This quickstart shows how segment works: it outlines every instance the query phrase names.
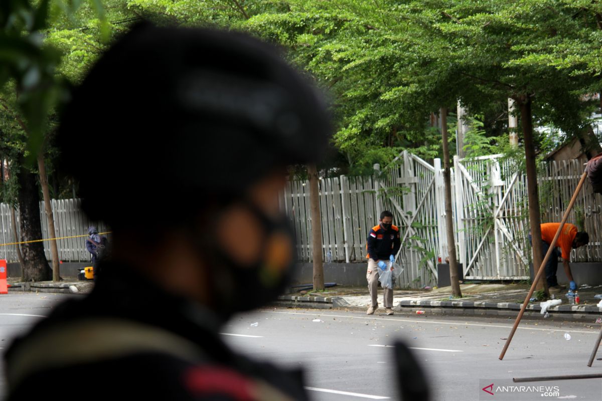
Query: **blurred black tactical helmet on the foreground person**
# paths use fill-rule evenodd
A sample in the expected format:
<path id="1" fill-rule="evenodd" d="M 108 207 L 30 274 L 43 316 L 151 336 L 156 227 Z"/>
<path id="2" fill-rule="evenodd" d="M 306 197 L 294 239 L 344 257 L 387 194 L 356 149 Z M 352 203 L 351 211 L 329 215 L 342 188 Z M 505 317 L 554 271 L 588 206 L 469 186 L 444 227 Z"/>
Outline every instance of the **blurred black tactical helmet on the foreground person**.
<path id="1" fill-rule="evenodd" d="M 272 46 L 208 29 L 135 26 L 76 88 L 60 168 L 92 219 L 179 221 L 273 168 L 318 161 L 329 117 Z"/>

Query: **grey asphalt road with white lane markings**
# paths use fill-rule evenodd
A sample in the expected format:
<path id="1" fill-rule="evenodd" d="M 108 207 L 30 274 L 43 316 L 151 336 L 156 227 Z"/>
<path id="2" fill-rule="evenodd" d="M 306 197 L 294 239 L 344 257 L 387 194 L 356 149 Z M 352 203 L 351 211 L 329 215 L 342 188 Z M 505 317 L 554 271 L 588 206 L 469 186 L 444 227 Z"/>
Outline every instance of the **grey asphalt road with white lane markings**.
<path id="1" fill-rule="evenodd" d="M 0 296 L 0 348 L 67 297 L 42 293 Z M 586 366 L 599 324 L 524 320 L 500 361 L 512 322 L 489 317 L 385 316 L 378 312 L 366 316 L 344 310 L 265 308 L 235 316 L 222 333 L 232 347 L 256 359 L 302 366 L 309 394 L 318 401 L 398 399 L 393 348 L 388 347 L 395 340 L 413 348 L 427 372 L 433 401 L 602 401 L 602 379 L 511 380 L 602 373 L 602 361 Z M 565 340 L 565 334 L 571 339 Z M 602 352 L 598 357 L 602 358 Z M 0 379 L 2 394 L 4 380 Z"/>

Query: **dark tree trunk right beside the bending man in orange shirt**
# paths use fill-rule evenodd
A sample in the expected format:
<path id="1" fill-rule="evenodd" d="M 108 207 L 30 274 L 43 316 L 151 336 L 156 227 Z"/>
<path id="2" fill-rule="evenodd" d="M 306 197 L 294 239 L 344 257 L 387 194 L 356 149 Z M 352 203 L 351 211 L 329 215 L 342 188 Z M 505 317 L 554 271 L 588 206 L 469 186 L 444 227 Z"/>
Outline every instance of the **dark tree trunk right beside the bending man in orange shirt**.
<path id="1" fill-rule="evenodd" d="M 529 196 L 529 224 L 531 226 L 531 243 L 533 248 L 533 270 L 537 274 L 543 257 L 541 255 L 541 216 L 539 214 L 539 191 L 537 185 L 537 168 L 535 165 L 535 145 L 533 144 L 533 121 L 531 115 L 531 98 L 529 96 L 515 99 L 521 108 L 521 127 L 525 146 L 525 165 L 527 170 L 527 194 Z M 541 276 L 535 287 L 548 293 L 545 274 Z"/>

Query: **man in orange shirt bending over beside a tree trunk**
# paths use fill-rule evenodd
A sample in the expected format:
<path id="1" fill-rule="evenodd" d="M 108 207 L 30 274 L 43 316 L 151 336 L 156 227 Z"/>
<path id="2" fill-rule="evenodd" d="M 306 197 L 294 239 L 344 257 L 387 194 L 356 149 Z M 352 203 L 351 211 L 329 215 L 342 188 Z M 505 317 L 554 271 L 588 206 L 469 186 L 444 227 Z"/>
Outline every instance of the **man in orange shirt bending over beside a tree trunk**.
<path id="1" fill-rule="evenodd" d="M 548 252 L 550 243 L 552 243 L 552 240 L 556 235 L 556 231 L 558 231 L 559 225 L 560 223 L 545 223 L 541 225 L 542 257 L 545 257 L 545 254 Z M 560 236 L 556 241 L 556 248 L 560 248 L 562 264 L 565 269 L 566 277 L 569 280 L 569 286 L 571 290 L 577 289 L 577 284 L 573 280 L 573 274 L 571 273 L 571 266 L 568 263 L 569 258 L 571 257 L 571 249 L 576 249 L 579 248 L 579 246 L 587 245 L 588 242 L 588 233 L 585 231 L 578 232 L 577 227 L 568 223 L 563 225 L 562 231 L 560 231 Z M 548 289 L 550 289 L 551 293 L 557 293 L 566 288 L 566 286 L 560 286 L 556 280 L 558 256 L 557 249 L 554 249 L 550 259 L 548 259 L 548 262 L 545 264 L 545 278 L 548 281 Z"/>

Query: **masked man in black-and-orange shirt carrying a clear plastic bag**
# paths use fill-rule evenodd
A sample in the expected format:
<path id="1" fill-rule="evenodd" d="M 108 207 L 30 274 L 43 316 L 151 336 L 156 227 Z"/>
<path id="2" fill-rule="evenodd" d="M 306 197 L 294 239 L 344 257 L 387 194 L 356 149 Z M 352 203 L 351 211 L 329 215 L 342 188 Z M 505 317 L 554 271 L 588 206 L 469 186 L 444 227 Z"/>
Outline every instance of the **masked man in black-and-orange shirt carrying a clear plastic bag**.
<path id="1" fill-rule="evenodd" d="M 399 238 L 399 227 L 393 225 L 393 213 L 388 210 L 380 213 L 379 222 L 379 225 L 370 229 L 366 244 L 368 248 L 366 279 L 371 301 L 367 314 L 373 314 L 378 309 L 378 269 L 385 270 L 388 265 L 391 265 L 391 269 L 393 269 L 395 256 L 402 245 Z M 393 314 L 393 289 L 383 289 L 383 304 L 385 313 Z"/>

